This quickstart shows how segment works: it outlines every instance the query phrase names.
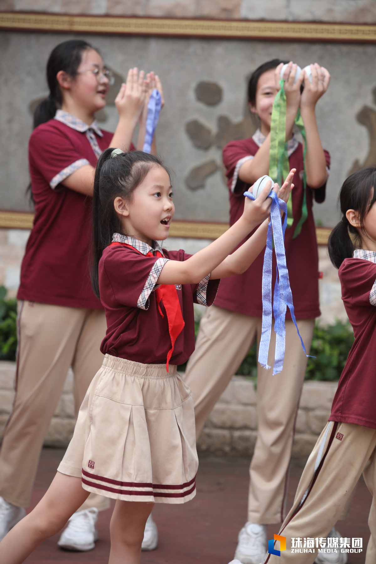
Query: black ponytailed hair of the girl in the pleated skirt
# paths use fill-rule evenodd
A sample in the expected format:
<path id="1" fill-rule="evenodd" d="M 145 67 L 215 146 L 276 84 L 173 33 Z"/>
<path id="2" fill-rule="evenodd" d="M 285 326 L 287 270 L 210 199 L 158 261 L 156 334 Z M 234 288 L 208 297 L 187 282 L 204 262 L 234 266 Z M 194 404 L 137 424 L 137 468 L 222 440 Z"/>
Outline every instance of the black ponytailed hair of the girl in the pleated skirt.
<path id="1" fill-rule="evenodd" d="M 104 249 L 110 245 L 113 233 L 122 232 L 113 201 L 118 196 L 128 201 L 132 200 L 133 191 L 153 166 L 163 167 L 170 177 L 169 170 L 159 157 L 143 151 L 121 153 L 111 157 L 112 151 L 113 148 L 110 147 L 100 155 L 94 177 L 91 285 L 98 298 L 100 257 Z"/>

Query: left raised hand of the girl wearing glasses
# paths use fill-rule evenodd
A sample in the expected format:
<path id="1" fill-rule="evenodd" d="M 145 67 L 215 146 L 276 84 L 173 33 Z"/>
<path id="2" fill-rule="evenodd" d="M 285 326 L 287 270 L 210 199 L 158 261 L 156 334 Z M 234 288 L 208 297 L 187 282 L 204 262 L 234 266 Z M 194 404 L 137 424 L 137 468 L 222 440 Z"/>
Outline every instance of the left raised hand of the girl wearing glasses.
<path id="1" fill-rule="evenodd" d="M 116 109 L 119 117 L 136 121 L 142 113 L 148 92 L 148 81 L 145 72 L 137 68 L 129 69 L 126 83 L 120 87 L 115 98 Z"/>

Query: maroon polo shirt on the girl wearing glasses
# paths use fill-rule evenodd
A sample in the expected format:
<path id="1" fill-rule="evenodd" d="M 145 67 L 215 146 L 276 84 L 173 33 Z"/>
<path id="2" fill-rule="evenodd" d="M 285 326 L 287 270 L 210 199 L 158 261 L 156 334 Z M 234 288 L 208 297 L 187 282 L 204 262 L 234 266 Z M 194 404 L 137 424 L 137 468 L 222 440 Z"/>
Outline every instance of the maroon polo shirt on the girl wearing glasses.
<path id="1" fill-rule="evenodd" d="M 102 134 L 94 133 L 103 151 L 113 133 Z M 97 166 L 97 161 L 85 133 L 58 120 L 38 126 L 30 136 L 35 217 L 21 266 L 18 299 L 102 309 L 90 283 L 91 198 L 59 183 L 80 166 Z"/>

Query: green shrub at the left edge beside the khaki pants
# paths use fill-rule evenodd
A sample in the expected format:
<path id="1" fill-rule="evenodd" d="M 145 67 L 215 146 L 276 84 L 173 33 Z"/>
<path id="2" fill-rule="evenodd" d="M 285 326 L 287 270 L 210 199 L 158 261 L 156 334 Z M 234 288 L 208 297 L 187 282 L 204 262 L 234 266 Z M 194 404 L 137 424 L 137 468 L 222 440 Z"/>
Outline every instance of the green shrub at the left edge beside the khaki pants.
<path id="1" fill-rule="evenodd" d="M 6 294 L 0 286 L 0 360 L 16 360 L 17 300 L 5 299 Z"/>

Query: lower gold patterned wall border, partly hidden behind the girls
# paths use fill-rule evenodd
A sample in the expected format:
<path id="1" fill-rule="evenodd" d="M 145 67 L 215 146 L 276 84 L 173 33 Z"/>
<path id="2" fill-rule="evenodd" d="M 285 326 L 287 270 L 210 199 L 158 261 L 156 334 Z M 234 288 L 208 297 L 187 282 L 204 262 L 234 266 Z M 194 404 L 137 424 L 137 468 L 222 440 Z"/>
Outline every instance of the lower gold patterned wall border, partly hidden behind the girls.
<path id="1" fill-rule="evenodd" d="M 34 214 L 30 211 L 0 210 L 0 229 L 31 229 Z M 182 221 L 176 219 L 170 227 L 170 237 L 185 239 L 217 239 L 228 230 L 228 223 Z M 316 227 L 318 245 L 326 245 L 330 227 Z"/>

